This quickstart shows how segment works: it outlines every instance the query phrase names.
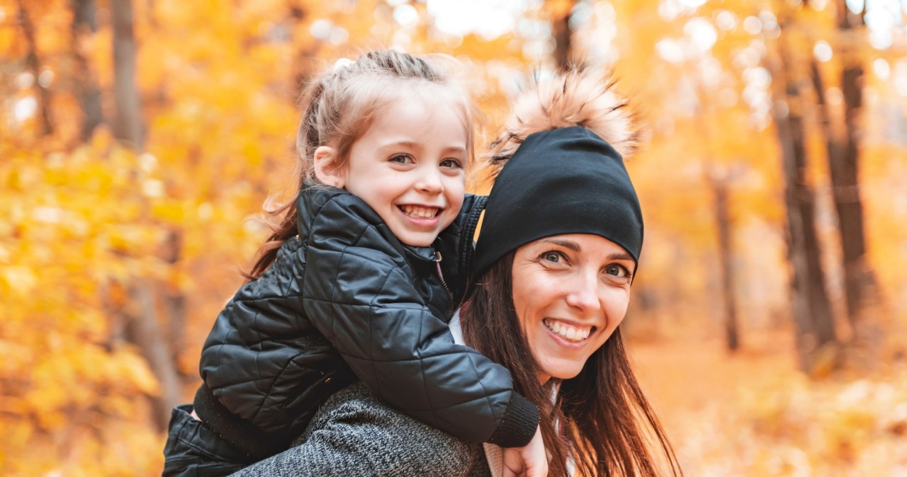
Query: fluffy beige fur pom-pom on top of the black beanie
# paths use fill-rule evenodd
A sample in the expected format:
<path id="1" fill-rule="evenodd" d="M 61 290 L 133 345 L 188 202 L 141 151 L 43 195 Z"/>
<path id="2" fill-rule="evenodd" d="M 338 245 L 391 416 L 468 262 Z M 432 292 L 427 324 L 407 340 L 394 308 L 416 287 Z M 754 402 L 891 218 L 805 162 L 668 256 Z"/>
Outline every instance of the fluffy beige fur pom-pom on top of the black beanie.
<path id="1" fill-rule="evenodd" d="M 536 79 L 513 101 L 510 118 L 491 145 L 490 176 L 500 173 L 528 136 L 549 129 L 581 126 L 607 141 L 620 156 L 632 156 L 639 143 L 639 129 L 627 100 L 614 91 L 615 84 L 610 75 L 587 65 Z"/>

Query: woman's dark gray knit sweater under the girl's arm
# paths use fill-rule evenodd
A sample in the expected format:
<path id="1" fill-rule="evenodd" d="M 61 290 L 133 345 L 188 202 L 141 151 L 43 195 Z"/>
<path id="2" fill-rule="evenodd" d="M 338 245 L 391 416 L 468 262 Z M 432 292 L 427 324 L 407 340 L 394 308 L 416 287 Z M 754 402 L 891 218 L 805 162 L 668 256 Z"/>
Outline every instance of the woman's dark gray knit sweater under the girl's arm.
<path id="1" fill-rule="evenodd" d="M 234 476 L 490 476 L 482 444 L 467 443 L 378 400 L 355 383 L 327 399 L 299 443 Z"/>

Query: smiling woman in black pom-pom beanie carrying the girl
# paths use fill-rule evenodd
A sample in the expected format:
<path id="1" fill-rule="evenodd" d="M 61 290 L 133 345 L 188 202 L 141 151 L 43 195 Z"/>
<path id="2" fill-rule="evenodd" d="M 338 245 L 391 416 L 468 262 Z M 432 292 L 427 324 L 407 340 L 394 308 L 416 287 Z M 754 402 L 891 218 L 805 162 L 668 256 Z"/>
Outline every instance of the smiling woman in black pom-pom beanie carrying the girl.
<path id="1" fill-rule="evenodd" d="M 618 152 L 635 144 L 623 107 L 582 70 L 518 100 L 493 144 L 499 174 L 476 244 L 475 290 L 452 323 L 540 406 L 551 475 L 661 474 L 652 437 L 661 462 L 681 473 L 619 332 L 643 236 Z M 405 417 L 363 385 L 332 396 L 300 440 L 236 475 L 523 472 L 493 445 L 483 455 L 480 444 Z"/>

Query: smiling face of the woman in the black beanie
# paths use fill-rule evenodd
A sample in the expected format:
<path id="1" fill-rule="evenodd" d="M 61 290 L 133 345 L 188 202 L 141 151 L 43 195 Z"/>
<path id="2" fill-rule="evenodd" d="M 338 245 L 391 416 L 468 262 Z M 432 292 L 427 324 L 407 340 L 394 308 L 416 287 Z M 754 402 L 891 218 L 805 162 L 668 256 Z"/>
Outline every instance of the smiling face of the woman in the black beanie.
<path id="1" fill-rule="evenodd" d="M 633 257 L 591 234 L 553 235 L 513 257 L 513 305 L 542 382 L 580 374 L 627 314 Z"/>

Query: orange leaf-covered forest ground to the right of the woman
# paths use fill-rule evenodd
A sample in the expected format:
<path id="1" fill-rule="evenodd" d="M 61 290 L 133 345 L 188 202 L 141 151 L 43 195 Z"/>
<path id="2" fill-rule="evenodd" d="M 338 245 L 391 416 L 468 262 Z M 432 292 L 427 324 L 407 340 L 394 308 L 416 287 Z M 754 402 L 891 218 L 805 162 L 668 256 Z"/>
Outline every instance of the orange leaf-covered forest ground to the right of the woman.
<path id="1" fill-rule="evenodd" d="M 810 381 L 794 371 L 788 329 L 747 335 L 729 357 L 716 339 L 633 349 L 644 388 L 688 475 L 901 475 L 907 470 L 904 369 Z"/>

